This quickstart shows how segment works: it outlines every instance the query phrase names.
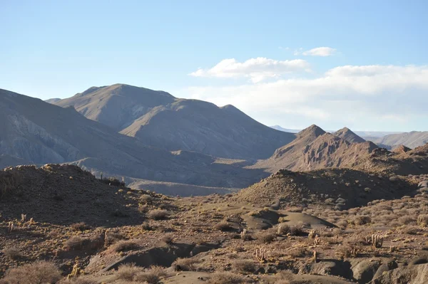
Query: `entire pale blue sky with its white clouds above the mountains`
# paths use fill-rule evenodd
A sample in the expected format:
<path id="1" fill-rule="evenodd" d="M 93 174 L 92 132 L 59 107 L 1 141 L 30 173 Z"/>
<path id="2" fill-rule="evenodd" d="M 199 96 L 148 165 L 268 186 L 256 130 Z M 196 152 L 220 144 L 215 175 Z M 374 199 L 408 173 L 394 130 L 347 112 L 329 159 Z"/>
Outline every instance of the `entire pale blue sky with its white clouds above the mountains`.
<path id="1" fill-rule="evenodd" d="M 427 1 L 0 0 L 0 88 L 127 83 L 266 125 L 428 130 Z"/>

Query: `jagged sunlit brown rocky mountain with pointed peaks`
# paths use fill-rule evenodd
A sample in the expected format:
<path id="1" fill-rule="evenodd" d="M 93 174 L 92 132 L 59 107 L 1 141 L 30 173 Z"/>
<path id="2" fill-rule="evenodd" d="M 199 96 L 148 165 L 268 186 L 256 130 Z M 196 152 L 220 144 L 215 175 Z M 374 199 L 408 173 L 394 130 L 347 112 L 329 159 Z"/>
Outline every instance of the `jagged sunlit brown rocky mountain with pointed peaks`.
<path id="1" fill-rule="evenodd" d="M 340 132 L 343 133 L 352 137 L 350 131 Z M 272 157 L 258 162 L 253 167 L 270 172 L 279 169 L 308 171 L 325 167 L 355 167 L 362 157 L 368 156 L 376 148 L 372 142 L 348 142 L 311 125 L 297 133 L 296 139 L 290 144 L 280 147 Z"/>

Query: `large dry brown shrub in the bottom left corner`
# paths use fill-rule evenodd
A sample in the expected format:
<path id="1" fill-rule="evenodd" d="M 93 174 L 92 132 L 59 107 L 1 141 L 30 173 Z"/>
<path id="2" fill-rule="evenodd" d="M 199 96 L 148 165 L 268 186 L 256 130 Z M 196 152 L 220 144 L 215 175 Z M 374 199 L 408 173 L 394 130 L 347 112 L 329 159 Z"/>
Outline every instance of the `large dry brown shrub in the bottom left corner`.
<path id="1" fill-rule="evenodd" d="M 5 283 L 9 284 L 44 284 L 56 283 L 61 279 L 61 272 L 54 263 L 37 261 L 11 268 L 6 272 Z"/>

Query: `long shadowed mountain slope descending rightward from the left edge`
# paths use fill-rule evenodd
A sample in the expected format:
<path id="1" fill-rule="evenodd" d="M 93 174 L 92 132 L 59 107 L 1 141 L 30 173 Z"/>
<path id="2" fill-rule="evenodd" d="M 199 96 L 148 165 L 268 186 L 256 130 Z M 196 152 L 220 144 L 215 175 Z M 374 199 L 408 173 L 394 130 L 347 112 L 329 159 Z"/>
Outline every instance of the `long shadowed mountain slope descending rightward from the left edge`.
<path id="1" fill-rule="evenodd" d="M 242 188 L 266 174 L 237 161 L 149 147 L 74 110 L 0 90 L 0 154 L 31 164 L 76 164 L 98 176 Z M 16 164 L 16 161 L 14 162 Z M 170 188 L 170 186 L 169 186 Z"/>

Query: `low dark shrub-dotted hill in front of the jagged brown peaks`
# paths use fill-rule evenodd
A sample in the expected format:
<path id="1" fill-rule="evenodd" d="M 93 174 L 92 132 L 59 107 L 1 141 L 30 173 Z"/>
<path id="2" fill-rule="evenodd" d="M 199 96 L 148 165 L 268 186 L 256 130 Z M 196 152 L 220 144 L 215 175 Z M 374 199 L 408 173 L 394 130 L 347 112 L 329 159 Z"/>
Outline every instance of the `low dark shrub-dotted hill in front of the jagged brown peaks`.
<path id="1" fill-rule="evenodd" d="M 378 176 L 354 169 L 319 169 L 290 172 L 285 169 L 272 174 L 236 195 L 240 202 L 263 206 L 280 200 L 282 208 L 292 206 L 329 205 L 347 209 L 367 204 L 374 199 L 396 199 L 412 194 L 416 184 L 390 176 Z"/>

